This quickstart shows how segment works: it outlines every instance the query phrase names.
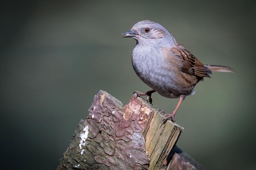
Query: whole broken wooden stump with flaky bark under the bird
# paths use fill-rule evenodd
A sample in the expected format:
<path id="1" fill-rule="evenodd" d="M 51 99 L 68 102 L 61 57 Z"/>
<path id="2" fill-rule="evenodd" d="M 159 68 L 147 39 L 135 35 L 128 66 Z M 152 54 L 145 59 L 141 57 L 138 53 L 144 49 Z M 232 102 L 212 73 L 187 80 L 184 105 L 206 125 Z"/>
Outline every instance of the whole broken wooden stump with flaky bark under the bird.
<path id="1" fill-rule="evenodd" d="M 205 170 L 174 147 L 182 130 L 141 97 L 123 107 L 99 91 L 57 170 Z"/>

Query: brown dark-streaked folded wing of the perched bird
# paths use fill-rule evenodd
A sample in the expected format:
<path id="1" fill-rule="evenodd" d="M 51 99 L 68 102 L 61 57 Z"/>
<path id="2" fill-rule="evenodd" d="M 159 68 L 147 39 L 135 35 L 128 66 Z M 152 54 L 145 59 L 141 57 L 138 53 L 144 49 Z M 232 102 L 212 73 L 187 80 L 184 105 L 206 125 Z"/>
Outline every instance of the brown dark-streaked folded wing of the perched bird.
<path id="1" fill-rule="evenodd" d="M 185 49 L 184 46 L 178 44 L 172 48 L 174 55 L 182 61 L 180 70 L 189 75 L 196 75 L 198 77 L 210 77 L 209 68 L 205 67 L 193 54 Z"/>

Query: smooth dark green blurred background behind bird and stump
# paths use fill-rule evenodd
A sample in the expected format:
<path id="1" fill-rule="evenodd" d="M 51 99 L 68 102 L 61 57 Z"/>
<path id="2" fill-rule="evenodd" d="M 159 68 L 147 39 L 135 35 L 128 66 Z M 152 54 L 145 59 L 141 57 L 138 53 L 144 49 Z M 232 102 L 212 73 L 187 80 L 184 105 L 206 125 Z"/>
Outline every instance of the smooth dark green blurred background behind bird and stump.
<path id="1" fill-rule="evenodd" d="M 55 169 L 100 89 L 126 104 L 138 21 L 161 23 L 204 64 L 234 68 L 196 86 L 177 112 L 177 145 L 208 170 L 256 169 L 256 2 L 1 2 L 1 169 Z M 171 112 L 178 100 L 153 94 Z"/>

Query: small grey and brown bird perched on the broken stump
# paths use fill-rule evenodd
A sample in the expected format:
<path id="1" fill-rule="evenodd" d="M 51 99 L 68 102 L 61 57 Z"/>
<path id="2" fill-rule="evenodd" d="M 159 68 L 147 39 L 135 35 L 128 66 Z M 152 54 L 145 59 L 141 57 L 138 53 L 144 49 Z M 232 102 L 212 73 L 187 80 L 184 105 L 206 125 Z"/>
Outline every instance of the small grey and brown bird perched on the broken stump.
<path id="1" fill-rule="evenodd" d="M 152 93 L 167 98 L 179 98 L 179 102 L 165 120 L 175 122 L 175 114 L 182 101 L 194 93 L 195 85 L 212 72 L 230 72 L 227 66 L 204 65 L 161 24 L 143 20 L 137 22 L 123 38 L 133 38 L 136 46 L 132 51 L 132 66 L 137 76 L 152 90 L 135 91 L 137 96 L 146 96 L 151 104 Z"/>

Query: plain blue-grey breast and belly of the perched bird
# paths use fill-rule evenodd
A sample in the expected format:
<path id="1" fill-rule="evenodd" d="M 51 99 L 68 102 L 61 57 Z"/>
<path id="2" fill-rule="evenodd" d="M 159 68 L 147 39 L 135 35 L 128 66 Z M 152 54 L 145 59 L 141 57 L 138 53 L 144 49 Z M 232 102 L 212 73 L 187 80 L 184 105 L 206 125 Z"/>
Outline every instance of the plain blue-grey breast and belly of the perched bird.
<path id="1" fill-rule="evenodd" d="M 173 78 L 175 73 L 168 69 L 165 57 L 161 56 L 160 48 L 149 46 L 135 46 L 132 51 L 132 66 L 139 78 L 160 95 L 176 98 Z"/>

